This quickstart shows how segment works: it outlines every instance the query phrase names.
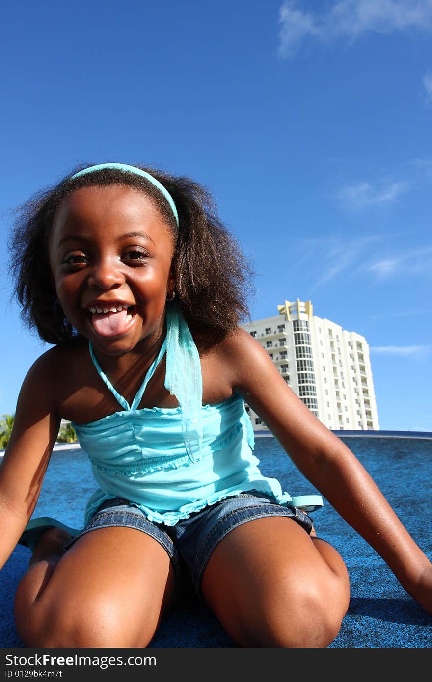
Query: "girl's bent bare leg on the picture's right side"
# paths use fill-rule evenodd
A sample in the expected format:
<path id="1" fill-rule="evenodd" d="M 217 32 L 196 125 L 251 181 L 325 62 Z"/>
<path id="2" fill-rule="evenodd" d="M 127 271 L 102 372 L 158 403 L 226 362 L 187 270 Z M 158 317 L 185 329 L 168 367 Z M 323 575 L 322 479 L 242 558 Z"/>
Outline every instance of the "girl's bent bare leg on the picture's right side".
<path id="1" fill-rule="evenodd" d="M 242 647 L 327 647 L 349 606 L 339 554 L 283 516 L 250 520 L 225 535 L 201 588 Z"/>

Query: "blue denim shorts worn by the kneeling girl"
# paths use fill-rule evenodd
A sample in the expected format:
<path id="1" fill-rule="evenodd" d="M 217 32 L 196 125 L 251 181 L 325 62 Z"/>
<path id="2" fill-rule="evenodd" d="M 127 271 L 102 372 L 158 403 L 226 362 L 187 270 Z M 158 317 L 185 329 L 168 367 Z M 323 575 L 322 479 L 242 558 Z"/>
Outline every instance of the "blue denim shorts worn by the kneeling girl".
<path id="1" fill-rule="evenodd" d="M 120 526 L 132 528 L 153 537 L 169 555 L 177 585 L 182 582 L 184 568 L 200 598 L 201 579 L 207 562 L 220 540 L 237 526 L 255 518 L 287 516 L 311 533 L 312 519 L 290 503 L 280 505 L 262 492 L 244 492 L 228 497 L 180 519 L 174 526 L 149 521 L 144 512 L 120 497 L 107 500 L 91 516 L 81 535 L 101 528 Z M 72 545 L 78 537 L 68 542 Z"/>

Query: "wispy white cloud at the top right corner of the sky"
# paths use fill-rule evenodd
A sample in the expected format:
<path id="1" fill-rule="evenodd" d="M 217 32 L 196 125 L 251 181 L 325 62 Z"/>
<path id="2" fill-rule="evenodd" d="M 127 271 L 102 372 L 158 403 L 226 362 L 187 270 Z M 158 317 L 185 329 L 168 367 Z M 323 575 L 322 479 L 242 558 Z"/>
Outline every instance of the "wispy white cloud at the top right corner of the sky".
<path id="1" fill-rule="evenodd" d="M 431 31 L 432 0 L 334 0 L 308 3 L 285 0 L 279 12 L 279 53 L 291 57 L 306 38 L 330 42 L 394 31 Z M 323 8 L 323 9 L 322 9 Z"/>

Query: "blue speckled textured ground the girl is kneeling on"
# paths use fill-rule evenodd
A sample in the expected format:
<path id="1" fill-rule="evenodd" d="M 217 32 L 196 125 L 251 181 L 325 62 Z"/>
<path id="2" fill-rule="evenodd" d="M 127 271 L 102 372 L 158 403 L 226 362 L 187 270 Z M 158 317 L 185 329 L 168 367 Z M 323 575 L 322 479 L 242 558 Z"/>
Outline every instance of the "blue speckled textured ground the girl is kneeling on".
<path id="1" fill-rule="evenodd" d="M 432 440 L 360 436 L 346 438 L 345 442 L 431 559 Z M 278 477 L 290 494 L 316 492 L 273 438 L 257 439 L 256 454 L 263 473 Z M 34 516 L 55 516 L 72 527 L 81 527 L 83 506 L 92 490 L 89 464 L 83 453 L 57 451 L 48 467 Z M 328 503 L 315 514 L 315 525 L 319 535 L 342 554 L 351 578 L 349 611 L 332 647 L 431 647 L 432 617 L 405 593 L 384 561 Z M 0 647 L 23 646 L 14 625 L 13 598 L 29 556 L 29 550 L 17 546 L 0 573 Z M 212 613 L 192 597 L 163 619 L 151 646 L 235 644 Z"/>

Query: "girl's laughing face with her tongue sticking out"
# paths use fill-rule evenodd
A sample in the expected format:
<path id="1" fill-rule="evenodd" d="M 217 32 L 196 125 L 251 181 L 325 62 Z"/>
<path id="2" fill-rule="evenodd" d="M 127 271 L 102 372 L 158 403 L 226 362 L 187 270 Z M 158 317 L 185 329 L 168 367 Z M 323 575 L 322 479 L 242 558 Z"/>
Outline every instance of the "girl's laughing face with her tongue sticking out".
<path id="1" fill-rule="evenodd" d="M 66 197 L 49 257 L 70 323 L 106 355 L 122 355 L 164 329 L 173 292 L 174 239 L 154 203 L 127 186 L 91 186 Z"/>

